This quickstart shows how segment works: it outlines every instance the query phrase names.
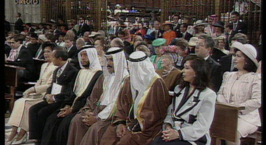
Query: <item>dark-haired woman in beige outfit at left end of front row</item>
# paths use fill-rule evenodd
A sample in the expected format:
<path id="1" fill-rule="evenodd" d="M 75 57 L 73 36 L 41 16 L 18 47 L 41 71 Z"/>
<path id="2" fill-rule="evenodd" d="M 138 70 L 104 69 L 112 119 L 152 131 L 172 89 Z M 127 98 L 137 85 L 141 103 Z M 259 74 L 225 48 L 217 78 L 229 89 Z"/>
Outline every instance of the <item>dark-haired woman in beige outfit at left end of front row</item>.
<path id="1" fill-rule="evenodd" d="M 43 96 L 52 82 L 53 71 L 57 66 L 52 62 L 52 51 L 55 47 L 53 43 L 47 43 L 44 49 L 44 57 L 47 62 L 42 64 L 40 78 L 34 87 L 30 87 L 23 92 L 23 97 L 16 100 L 8 125 L 12 125 L 11 134 L 6 141 L 7 144 L 21 144 L 25 142 L 28 131 L 29 107 L 43 101 Z M 18 133 L 18 128 L 20 132 Z"/>

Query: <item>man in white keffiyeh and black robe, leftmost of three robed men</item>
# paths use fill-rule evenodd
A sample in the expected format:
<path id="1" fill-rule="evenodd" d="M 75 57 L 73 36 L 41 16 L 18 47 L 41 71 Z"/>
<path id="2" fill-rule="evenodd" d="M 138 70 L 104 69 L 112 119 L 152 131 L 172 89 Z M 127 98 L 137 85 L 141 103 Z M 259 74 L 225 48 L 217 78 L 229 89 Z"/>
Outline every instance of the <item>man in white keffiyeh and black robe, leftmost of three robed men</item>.
<path id="1" fill-rule="evenodd" d="M 82 49 L 78 60 L 81 69 L 74 83 L 72 99 L 48 117 L 41 144 L 67 144 L 72 118 L 85 105 L 93 86 L 103 74 L 95 48 Z"/>

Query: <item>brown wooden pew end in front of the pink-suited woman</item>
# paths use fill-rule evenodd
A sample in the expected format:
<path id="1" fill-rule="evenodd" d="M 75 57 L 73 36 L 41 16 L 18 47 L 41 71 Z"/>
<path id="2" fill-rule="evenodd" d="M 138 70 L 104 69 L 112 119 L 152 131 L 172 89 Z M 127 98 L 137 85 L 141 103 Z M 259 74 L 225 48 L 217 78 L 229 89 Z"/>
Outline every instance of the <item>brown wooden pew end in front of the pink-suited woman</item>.
<path id="1" fill-rule="evenodd" d="M 221 144 L 221 139 L 236 141 L 238 114 L 240 110 L 244 109 L 244 106 L 216 103 L 214 119 L 210 129 L 210 134 L 215 139 L 215 144 Z"/>

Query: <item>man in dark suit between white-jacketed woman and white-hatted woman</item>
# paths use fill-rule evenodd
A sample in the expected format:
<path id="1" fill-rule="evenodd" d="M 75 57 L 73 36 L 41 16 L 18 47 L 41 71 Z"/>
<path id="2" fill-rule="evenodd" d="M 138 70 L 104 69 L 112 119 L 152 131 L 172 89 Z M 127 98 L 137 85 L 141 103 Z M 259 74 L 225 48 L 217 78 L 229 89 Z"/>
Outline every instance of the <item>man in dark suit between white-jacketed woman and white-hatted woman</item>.
<path id="1" fill-rule="evenodd" d="M 198 44 L 195 48 L 195 54 L 203 57 L 208 62 L 212 83 L 210 88 L 215 92 L 218 92 L 222 83 L 222 69 L 221 65 L 210 57 L 210 52 L 214 46 L 215 42 L 212 37 L 208 34 L 202 34 L 198 36 Z"/>

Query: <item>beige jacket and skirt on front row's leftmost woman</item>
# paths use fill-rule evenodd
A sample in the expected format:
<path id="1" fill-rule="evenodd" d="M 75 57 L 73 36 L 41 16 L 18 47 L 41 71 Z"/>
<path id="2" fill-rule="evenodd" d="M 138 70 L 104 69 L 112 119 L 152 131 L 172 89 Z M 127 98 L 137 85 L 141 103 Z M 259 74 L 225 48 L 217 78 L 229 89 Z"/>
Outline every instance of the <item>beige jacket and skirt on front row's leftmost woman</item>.
<path id="1" fill-rule="evenodd" d="M 43 96 L 46 93 L 46 89 L 50 86 L 52 82 L 53 71 L 57 66 L 53 63 L 44 63 L 41 67 L 40 78 L 35 85 L 37 93 L 30 95 L 28 98 L 22 97 L 15 101 L 12 114 L 10 116 L 9 125 L 20 127 L 25 131 L 28 131 L 28 111 L 29 108 L 43 101 Z M 27 89 L 23 94 L 25 94 L 29 89 Z"/>

